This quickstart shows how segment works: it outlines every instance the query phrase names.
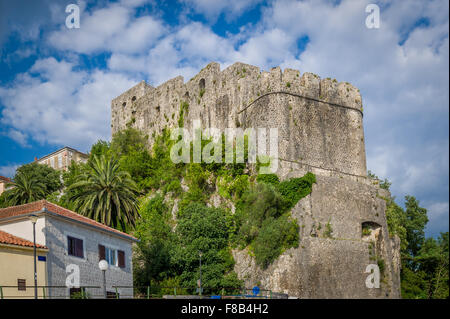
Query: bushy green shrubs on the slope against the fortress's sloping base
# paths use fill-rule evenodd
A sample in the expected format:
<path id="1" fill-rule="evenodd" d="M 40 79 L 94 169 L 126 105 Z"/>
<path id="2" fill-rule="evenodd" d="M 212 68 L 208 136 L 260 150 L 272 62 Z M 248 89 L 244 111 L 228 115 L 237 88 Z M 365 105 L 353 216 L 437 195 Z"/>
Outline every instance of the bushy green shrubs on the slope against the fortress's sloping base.
<path id="1" fill-rule="evenodd" d="M 284 249 L 298 247 L 299 226 L 289 210 L 311 192 L 315 176 L 279 182 L 273 175 L 259 175 L 254 187 L 237 202 L 235 242 L 249 245 L 256 262 L 266 268 Z"/>

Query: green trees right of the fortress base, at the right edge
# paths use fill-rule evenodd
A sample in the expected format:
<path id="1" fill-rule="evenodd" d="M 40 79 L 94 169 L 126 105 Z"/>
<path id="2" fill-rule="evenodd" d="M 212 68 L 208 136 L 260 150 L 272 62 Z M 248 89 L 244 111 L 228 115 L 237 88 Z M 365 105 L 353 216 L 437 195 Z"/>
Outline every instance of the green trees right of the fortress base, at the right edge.
<path id="1" fill-rule="evenodd" d="M 375 176 L 370 171 L 369 175 Z M 400 238 L 402 297 L 448 298 L 448 232 L 441 233 L 437 240 L 425 238 L 427 210 L 420 207 L 415 197 L 405 196 L 405 209 L 394 198 L 385 200 L 389 234 Z M 380 266 L 380 260 L 377 262 Z"/>

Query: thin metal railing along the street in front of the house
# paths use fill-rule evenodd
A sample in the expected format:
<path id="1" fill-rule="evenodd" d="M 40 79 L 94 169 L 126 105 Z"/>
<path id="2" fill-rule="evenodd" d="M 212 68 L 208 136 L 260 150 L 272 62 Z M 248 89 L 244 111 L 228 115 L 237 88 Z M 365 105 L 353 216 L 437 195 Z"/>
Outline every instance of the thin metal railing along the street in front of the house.
<path id="1" fill-rule="evenodd" d="M 112 290 L 111 290 L 112 288 Z M 34 299 L 35 286 L 0 286 L 0 299 Z M 101 286 L 37 286 L 38 299 L 105 298 Z M 208 288 L 166 286 L 112 286 L 108 299 L 287 299 L 288 295 L 271 290 L 236 287 Z"/>

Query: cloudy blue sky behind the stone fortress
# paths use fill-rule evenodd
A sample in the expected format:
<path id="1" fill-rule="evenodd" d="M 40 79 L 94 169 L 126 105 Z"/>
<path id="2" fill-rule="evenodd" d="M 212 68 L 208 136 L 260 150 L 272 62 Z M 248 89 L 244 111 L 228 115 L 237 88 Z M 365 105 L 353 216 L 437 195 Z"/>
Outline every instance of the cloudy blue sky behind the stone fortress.
<path id="1" fill-rule="evenodd" d="M 65 7 L 81 9 L 79 29 Z M 379 29 L 365 26 L 369 3 Z M 142 79 L 240 61 L 361 90 L 368 168 L 448 231 L 448 1 L 0 0 L 0 175 L 110 139 L 110 101 Z"/>

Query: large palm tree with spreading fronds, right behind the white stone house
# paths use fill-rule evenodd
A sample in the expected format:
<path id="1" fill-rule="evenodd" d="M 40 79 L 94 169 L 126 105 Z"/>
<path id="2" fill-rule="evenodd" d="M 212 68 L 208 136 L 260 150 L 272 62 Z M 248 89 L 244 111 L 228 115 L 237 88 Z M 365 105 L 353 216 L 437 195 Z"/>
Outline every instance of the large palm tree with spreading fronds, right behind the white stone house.
<path id="1" fill-rule="evenodd" d="M 137 186 L 114 158 L 94 156 L 68 194 L 77 212 L 108 226 L 119 223 L 125 230 L 127 225 L 134 227 L 139 216 Z"/>

